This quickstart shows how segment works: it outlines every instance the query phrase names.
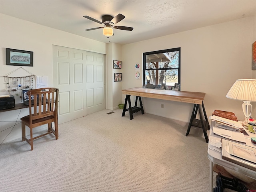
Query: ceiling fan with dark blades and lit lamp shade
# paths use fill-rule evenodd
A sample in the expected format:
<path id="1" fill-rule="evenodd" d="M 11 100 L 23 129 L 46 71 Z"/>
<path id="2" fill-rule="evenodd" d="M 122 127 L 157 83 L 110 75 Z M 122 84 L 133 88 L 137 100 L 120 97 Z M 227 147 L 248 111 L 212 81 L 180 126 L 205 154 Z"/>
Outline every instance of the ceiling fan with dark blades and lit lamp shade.
<path id="1" fill-rule="evenodd" d="M 117 24 L 118 22 L 120 22 L 121 20 L 123 20 L 125 18 L 125 16 L 123 16 L 122 14 L 118 14 L 115 17 L 113 17 L 111 15 L 103 15 L 102 16 L 102 22 L 100 22 L 100 21 L 98 21 L 94 18 L 91 18 L 87 15 L 85 15 L 83 17 L 87 18 L 87 19 L 90 19 L 94 22 L 97 22 L 99 24 L 103 24 L 102 27 L 90 28 L 90 29 L 86 29 L 86 31 L 91 31 L 91 30 L 103 28 L 103 34 L 105 36 L 113 36 L 114 35 L 113 28 L 114 29 L 120 29 L 120 30 L 126 30 L 126 31 L 132 31 L 133 30 L 133 27 L 115 26 L 115 24 Z"/>

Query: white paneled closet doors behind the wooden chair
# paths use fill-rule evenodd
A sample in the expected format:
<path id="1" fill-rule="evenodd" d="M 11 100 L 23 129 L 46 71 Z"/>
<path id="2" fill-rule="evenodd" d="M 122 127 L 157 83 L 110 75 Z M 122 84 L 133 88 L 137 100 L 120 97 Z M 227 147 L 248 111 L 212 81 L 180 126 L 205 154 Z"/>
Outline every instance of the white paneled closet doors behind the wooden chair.
<path id="1" fill-rule="evenodd" d="M 53 82 L 59 91 L 59 123 L 105 109 L 105 56 L 53 46 Z"/>

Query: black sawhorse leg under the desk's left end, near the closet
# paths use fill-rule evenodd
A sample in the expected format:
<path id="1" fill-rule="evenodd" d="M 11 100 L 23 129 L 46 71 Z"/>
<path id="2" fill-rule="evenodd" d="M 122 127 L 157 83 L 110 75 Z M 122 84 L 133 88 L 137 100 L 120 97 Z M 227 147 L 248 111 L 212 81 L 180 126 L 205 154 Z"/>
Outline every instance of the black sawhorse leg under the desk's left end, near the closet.
<path id="1" fill-rule="evenodd" d="M 138 98 L 139 98 L 139 102 L 140 102 L 140 107 L 137 107 Z M 128 108 L 128 109 L 126 109 L 127 101 L 128 101 L 128 105 L 129 105 L 129 108 Z M 126 111 L 129 111 L 130 120 L 133 119 L 133 115 L 132 115 L 132 114 L 134 114 L 134 113 L 136 113 L 136 112 L 141 111 L 141 114 L 144 114 L 144 109 L 143 109 L 143 106 L 142 106 L 141 97 L 140 97 L 140 96 L 136 96 L 135 105 L 134 105 L 134 107 L 132 107 L 132 105 L 131 105 L 131 96 L 130 96 L 130 95 L 126 95 L 125 102 L 124 102 L 124 109 L 123 109 L 123 112 L 122 112 L 122 116 L 125 115 L 125 112 L 126 112 Z"/>

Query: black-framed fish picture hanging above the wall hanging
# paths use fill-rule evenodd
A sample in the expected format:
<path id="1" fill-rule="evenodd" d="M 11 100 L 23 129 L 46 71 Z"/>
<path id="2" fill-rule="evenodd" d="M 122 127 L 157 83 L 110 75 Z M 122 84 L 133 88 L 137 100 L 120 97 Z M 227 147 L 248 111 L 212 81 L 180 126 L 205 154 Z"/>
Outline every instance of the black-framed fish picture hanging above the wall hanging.
<path id="1" fill-rule="evenodd" d="M 33 52 L 6 48 L 6 65 L 33 66 Z"/>

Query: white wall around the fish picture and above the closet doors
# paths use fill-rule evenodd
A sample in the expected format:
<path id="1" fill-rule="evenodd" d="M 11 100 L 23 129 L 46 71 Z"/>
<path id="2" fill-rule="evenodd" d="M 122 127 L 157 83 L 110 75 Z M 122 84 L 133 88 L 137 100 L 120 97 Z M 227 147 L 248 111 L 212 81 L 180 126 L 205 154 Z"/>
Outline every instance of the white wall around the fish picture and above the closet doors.
<path id="1" fill-rule="evenodd" d="M 20 67 L 6 66 L 6 48 L 33 51 L 34 66 L 22 68 L 37 76 L 48 76 L 48 86 L 53 85 L 52 45 L 106 54 L 105 43 L 4 14 L 0 14 L 0 26 L 0 95 L 8 94 L 2 76 Z M 21 100 L 16 96 L 16 103 L 19 102 Z"/>

